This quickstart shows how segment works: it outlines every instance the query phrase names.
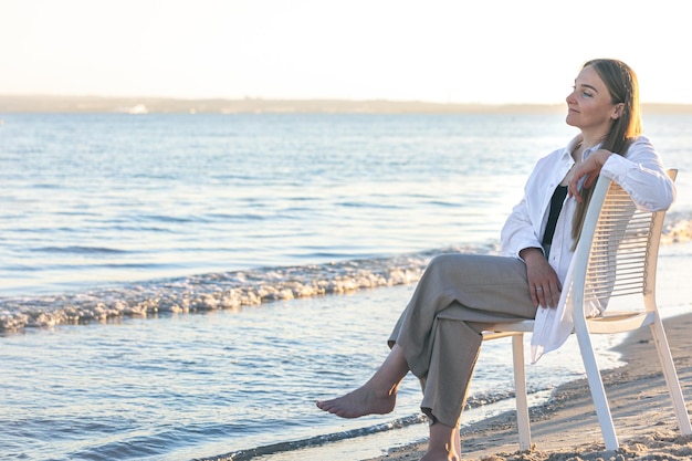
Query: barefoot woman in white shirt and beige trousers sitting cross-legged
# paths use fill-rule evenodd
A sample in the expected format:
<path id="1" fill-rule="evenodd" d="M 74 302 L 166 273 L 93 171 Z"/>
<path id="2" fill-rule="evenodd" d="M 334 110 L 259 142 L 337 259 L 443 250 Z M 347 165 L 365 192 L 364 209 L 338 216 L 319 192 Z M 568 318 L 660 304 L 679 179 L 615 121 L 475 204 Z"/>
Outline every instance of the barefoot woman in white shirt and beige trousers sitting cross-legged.
<path id="1" fill-rule="evenodd" d="M 567 96 L 567 124 L 580 130 L 536 164 L 502 233 L 502 256 L 434 258 L 389 338 L 391 350 L 360 388 L 317 407 L 343 418 L 390 412 L 408 371 L 430 419 L 422 461 L 459 460 L 459 423 L 484 325 L 535 318 L 556 307 L 598 175 L 642 209 L 670 207 L 675 189 L 641 136 L 637 76 L 617 60 L 584 64 Z M 545 350 L 559 344 L 547 345 Z"/>

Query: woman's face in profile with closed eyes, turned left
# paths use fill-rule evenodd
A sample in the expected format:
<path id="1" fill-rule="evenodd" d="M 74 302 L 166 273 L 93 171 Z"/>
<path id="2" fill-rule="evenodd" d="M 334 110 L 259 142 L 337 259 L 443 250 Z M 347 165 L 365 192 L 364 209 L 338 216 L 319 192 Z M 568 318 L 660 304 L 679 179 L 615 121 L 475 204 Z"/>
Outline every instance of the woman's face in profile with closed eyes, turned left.
<path id="1" fill-rule="evenodd" d="M 566 101 L 567 125 L 597 139 L 608 134 L 612 121 L 621 115 L 623 106 L 612 104 L 608 87 L 590 65 L 579 72 L 574 91 Z"/>

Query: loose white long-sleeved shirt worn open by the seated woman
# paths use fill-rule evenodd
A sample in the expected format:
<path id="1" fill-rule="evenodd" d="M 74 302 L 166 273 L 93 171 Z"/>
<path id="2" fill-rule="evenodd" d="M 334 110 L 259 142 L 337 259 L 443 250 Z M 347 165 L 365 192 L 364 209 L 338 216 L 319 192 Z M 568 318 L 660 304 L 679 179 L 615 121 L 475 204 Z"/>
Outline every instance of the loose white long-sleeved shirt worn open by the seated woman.
<path id="1" fill-rule="evenodd" d="M 501 233 L 502 254 L 520 258 L 525 248 L 542 248 L 543 232 L 548 219 L 551 198 L 574 165 L 572 151 L 581 140 L 575 137 L 567 147 L 553 151 L 536 163 L 524 187 L 524 198 L 512 210 Z M 583 160 L 600 148 L 585 149 Z M 675 187 L 663 169 L 661 157 L 644 136 L 635 139 L 625 156 L 611 155 L 600 175 L 615 180 L 632 198 L 638 208 L 647 211 L 667 210 L 675 199 Z M 567 197 L 557 219 L 551 245 L 549 264 L 564 284 L 572 263 L 572 218 L 577 201 Z M 532 363 L 543 354 L 562 346 L 572 333 L 572 306 L 565 294 L 557 308 L 538 307 L 532 336 Z M 600 305 L 587 305 L 589 316 L 600 313 Z"/>

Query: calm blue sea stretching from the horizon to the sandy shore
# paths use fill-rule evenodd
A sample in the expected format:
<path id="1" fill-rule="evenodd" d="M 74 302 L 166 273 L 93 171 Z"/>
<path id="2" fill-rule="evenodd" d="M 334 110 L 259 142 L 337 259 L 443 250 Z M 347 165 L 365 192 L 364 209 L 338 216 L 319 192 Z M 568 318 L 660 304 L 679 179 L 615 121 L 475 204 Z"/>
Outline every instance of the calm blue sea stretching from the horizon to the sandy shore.
<path id="1" fill-rule="evenodd" d="M 643 122 L 680 170 L 665 266 L 692 255 L 692 115 Z M 390 415 L 315 401 L 375 371 L 432 256 L 497 254 L 533 165 L 576 134 L 559 114 L 0 114 L 0 460 L 424 440 L 411 376 Z M 674 291 L 667 315 L 690 311 Z M 486 343 L 463 425 L 511 410 L 511 370 Z M 568 342 L 528 367 L 532 398 L 583 376 Z"/>

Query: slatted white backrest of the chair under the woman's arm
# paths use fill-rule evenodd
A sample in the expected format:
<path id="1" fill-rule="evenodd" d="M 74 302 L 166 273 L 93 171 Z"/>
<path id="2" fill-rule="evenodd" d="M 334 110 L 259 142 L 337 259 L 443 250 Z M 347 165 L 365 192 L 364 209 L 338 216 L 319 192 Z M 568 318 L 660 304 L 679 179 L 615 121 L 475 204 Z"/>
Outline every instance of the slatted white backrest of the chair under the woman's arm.
<path id="1" fill-rule="evenodd" d="M 669 170 L 675 179 L 678 170 Z M 599 178 L 575 252 L 570 296 L 602 308 L 614 296 L 641 294 L 656 310 L 656 266 L 665 211 L 642 211 L 615 181 Z M 575 316 L 578 312 L 575 311 Z"/>

